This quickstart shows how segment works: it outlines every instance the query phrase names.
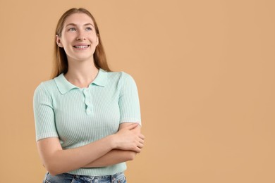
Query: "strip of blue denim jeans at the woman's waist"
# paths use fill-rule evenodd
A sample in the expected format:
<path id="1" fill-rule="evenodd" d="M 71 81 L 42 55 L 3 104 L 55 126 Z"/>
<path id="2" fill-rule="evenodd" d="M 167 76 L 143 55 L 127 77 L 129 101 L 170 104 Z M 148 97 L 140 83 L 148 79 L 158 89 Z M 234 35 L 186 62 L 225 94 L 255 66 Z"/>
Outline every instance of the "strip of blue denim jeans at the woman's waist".
<path id="1" fill-rule="evenodd" d="M 68 173 L 52 176 L 49 173 L 45 175 L 43 183 L 126 183 L 124 173 L 105 176 L 84 176 L 71 175 Z"/>

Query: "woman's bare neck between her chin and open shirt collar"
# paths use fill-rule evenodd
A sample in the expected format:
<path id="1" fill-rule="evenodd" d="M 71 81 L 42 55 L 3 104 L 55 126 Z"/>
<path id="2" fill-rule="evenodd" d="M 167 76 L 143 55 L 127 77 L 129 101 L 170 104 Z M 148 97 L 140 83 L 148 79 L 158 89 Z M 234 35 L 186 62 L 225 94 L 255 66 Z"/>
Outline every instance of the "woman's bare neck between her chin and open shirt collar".
<path id="1" fill-rule="evenodd" d="M 64 76 L 68 82 L 84 88 L 88 87 L 97 77 L 98 71 L 94 61 L 68 61 L 68 72 Z"/>

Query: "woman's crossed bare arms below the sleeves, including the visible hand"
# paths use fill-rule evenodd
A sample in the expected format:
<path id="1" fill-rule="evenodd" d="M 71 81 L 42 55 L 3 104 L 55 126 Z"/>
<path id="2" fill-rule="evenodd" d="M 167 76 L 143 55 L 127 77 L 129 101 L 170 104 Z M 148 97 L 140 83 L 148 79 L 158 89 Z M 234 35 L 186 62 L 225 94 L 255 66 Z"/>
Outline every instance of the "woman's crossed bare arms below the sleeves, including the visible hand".
<path id="1" fill-rule="evenodd" d="M 130 157 L 126 156 L 126 154 L 133 155 L 133 153 L 126 153 L 127 151 L 140 153 L 142 149 L 144 136 L 132 131 L 136 127 L 137 124 L 128 125 L 128 127 L 118 130 L 116 134 L 109 135 L 103 139 L 75 149 L 63 150 L 59 139 L 56 137 L 37 141 L 37 147 L 42 162 L 51 175 L 58 175 L 63 172 L 84 168 L 95 160 L 97 161 L 91 164 L 94 167 L 121 163 Z M 112 151 L 108 154 L 109 151 L 113 149 L 121 149 L 124 151 L 121 151 L 122 153 Z M 107 156 L 104 157 L 103 160 L 99 159 L 106 154 Z M 114 160 L 112 158 L 114 158 Z"/>

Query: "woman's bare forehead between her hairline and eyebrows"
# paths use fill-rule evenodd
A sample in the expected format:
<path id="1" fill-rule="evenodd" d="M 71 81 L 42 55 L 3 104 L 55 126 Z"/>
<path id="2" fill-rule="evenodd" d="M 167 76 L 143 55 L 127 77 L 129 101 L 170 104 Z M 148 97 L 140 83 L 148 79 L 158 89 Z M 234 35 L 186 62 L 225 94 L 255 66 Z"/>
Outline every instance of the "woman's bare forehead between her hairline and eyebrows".
<path id="1" fill-rule="evenodd" d="M 75 25 L 84 25 L 87 23 L 91 23 L 92 25 L 94 25 L 92 18 L 90 18 L 90 16 L 86 13 L 73 13 L 69 15 L 64 21 L 64 26 L 71 23 Z"/>

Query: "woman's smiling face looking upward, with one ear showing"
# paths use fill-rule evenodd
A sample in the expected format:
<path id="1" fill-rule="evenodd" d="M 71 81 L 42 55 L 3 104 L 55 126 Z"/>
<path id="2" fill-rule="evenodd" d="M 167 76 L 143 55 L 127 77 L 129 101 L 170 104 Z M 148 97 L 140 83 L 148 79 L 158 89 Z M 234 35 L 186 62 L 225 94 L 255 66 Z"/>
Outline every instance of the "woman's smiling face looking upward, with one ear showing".
<path id="1" fill-rule="evenodd" d="M 56 44 L 65 50 L 68 61 L 94 61 L 93 55 L 98 43 L 92 18 L 85 13 L 68 16 L 61 37 L 56 35 Z"/>

